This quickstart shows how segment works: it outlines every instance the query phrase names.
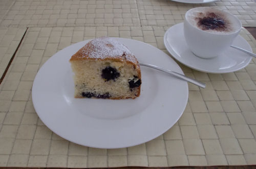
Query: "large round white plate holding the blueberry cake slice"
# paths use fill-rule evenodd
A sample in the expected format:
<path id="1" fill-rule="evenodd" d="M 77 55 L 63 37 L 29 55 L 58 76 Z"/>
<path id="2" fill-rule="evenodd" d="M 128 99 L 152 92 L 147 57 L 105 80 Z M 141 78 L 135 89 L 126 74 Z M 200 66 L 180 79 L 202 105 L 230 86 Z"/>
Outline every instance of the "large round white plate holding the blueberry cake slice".
<path id="1" fill-rule="evenodd" d="M 115 38 L 139 61 L 183 74 L 178 64 L 156 47 Z M 94 148 L 124 148 L 150 141 L 166 132 L 182 115 L 188 99 L 187 82 L 141 66 L 141 95 L 136 99 L 75 99 L 69 59 L 89 40 L 53 55 L 39 69 L 32 88 L 35 110 L 57 135 Z"/>

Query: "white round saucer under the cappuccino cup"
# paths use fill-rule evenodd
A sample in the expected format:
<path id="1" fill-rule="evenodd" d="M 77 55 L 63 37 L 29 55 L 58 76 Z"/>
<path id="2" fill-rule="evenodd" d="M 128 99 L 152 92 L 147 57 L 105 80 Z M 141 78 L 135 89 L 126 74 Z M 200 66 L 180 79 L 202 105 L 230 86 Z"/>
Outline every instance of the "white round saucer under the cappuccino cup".
<path id="1" fill-rule="evenodd" d="M 164 45 L 167 51 L 179 62 L 190 68 L 212 74 L 237 71 L 247 66 L 252 59 L 248 54 L 231 47 L 215 58 L 203 59 L 197 57 L 188 49 L 183 33 L 183 23 L 178 23 L 165 32 Z M 240 35 L 234 39 L 232 45 L 252 51 L 249 43 Z"/>

